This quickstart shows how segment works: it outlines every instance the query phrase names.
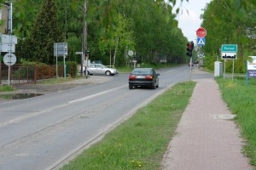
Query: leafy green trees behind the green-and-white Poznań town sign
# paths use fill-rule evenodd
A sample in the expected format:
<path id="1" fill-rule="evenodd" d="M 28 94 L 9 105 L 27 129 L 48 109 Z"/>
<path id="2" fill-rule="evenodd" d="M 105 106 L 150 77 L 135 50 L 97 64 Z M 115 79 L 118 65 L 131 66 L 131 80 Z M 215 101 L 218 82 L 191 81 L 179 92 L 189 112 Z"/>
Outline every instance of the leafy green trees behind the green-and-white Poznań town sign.
<path id="1" fill-rule="evenodd" d="M 247 2 L 247 1 L 246 1 Z M 247 14 L 241 14 L 242 6 L 237 9 L 232 0 L 213 0 L 207 5 L 202 15 L 202 26 L 207 29 L 207 43 L 205 52 L 207 67 L 213 69 L 213 61 L 216 55 L 220 56 L 219 48 L 222 44 L 237 44 L 238 59 L 236 60 L 236 72 L 245 72 L 245 61 L 248 55 L 253 55 L 252 47 L 255 47 L 255 20 L 256 11 L 253 4 L 246 6 Z M 226 71 L 232 69 L 232 62 L 226 62 Z"/>

